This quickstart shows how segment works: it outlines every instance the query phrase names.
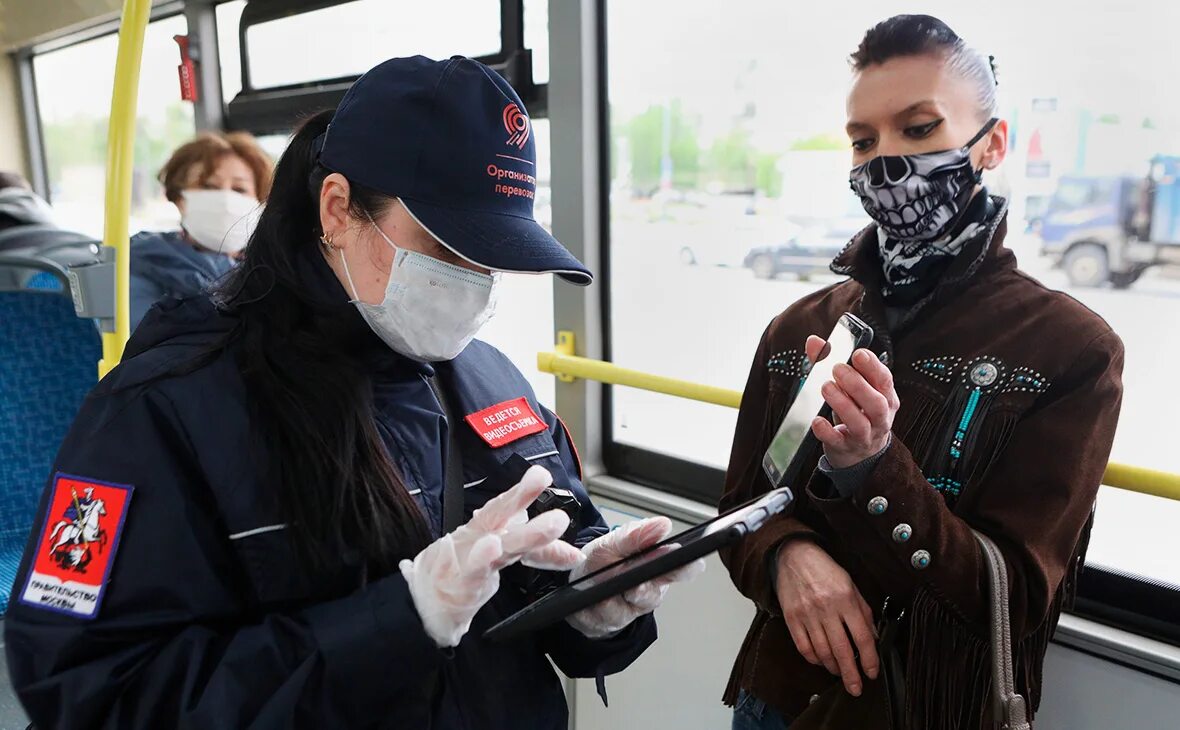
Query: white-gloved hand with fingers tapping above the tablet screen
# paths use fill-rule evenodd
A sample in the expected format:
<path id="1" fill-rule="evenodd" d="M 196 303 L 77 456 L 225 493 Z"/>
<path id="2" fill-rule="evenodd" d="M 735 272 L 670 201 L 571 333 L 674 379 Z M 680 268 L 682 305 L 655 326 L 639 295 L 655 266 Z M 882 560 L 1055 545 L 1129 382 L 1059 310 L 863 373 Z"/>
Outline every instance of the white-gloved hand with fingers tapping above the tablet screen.
<path id="1" fill-rule="evenodd" d="M 431 542 L 398 566 L 426 633 L 441 647 L 457 646 L 479 609 L 500 587 L 500 570 L 520 560 L 529 566 L 568 571 L 585 561 L 562 542 L 570 518 L 552 509 L 530 520 L 525 509 L 553 478 L 543 467 L 476 511 L 466 525 Z"/>

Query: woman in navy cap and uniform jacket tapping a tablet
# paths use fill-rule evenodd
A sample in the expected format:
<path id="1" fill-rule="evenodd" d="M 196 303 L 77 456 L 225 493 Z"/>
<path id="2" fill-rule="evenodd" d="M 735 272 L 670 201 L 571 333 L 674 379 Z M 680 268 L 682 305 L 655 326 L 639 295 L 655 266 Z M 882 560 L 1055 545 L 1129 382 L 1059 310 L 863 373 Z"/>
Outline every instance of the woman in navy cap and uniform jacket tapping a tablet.
<path id="1" fill-rule="evenodd" d="M 602 688 L 655 639 L 699 566 L 481 639 L 670 531 L 608 533 L 564 426 L 473 341 L 498 271 L 590 282 L 535 163 L 460 58 L 386 61 L 300 129 L 241 267 L 144 320 L 61 447 L 5 620 L 38 726 L 557 730 L 550 659 Z M 576 501 L 537 514 L 551 485 Z"/>

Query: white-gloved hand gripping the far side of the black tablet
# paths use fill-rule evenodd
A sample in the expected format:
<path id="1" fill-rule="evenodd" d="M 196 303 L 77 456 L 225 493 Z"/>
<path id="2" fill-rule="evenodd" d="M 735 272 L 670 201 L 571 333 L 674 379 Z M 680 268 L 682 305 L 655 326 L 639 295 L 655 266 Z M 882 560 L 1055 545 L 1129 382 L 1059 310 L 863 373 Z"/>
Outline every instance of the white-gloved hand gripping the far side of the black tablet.
<path id="1" fill-rule="evenodd" d="M 586 557 L 585 563 L 570 572 L 570 583 L 647 550 L 664 540 L 669 533 L 671 533 L 671 520 L 666 517 L 635 520 L 612 530 L 582 548 Z M 668 586 L 681 580 L 691 580 L 703 572 L 704 560 L 699 559 L 624 591 L 621 596 L 614 596 L 601 604 L 578 611 L 565 620 L 591 639 L 608 637 L 625 629 L 638 617 L 655 611 L 663 603 Z"/>

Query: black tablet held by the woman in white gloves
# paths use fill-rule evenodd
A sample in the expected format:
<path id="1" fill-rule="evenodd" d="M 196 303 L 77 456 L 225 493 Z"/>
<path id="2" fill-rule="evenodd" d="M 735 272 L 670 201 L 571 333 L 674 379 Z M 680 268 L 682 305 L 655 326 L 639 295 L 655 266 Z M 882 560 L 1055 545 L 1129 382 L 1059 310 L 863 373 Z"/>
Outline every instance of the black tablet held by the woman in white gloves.
<path id="1" fill-rule="evenodd" d="M 503 642 L 544 629 L 611 596 L 670 573 L 754 532 L 772 514 L 782 512 L 792 499 L 787 487 L 767 492 L 708 522 L 557 588 L 489 629 L 484 638 Z"/>

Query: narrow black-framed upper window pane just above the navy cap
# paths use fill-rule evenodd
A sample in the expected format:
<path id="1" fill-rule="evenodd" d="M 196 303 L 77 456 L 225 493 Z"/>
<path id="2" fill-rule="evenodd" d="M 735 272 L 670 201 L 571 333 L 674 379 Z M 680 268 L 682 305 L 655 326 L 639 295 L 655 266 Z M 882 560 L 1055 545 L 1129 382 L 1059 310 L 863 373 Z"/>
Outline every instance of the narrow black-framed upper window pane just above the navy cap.
<path id="1" fill-rule="evenodd" d="M 355 0 L 251 26 L 247 47 L 255 88 L 356 75 L 394 57 L 490 55 L 500 50 L 500 5 Z"/>

